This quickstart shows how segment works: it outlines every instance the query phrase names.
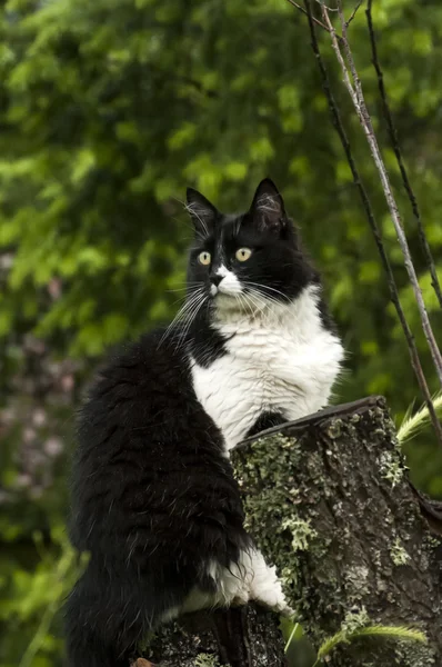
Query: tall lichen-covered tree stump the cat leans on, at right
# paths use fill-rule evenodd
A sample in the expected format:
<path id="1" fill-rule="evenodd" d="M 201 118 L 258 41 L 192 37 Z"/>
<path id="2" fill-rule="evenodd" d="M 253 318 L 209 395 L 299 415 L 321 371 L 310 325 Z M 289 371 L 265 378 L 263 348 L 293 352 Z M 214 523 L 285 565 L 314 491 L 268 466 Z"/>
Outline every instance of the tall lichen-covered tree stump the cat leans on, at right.
<path id="1" fill-rule="evenodd" d="M 232 455 L 248 528 L 318 647 L 358 625 L 429 644 L 360 638 L 335 667 L 442 665 L 442 545 L 420 510 L 382 398 L 260 434 Z"/>

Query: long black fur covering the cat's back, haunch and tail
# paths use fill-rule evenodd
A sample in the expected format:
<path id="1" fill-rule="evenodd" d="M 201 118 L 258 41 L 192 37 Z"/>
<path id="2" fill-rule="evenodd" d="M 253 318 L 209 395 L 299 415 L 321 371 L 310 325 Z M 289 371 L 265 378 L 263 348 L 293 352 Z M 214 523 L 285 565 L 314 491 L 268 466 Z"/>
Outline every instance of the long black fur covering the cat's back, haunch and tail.
<path id="1" fill-rule="evenodd" d="M 90 563 L 67 605 L 72 667 L 128 666 L 208 560 L 250 542 L 222 437 L 175 340 L 144 337 L 100 375 L 80 416 L 71 538 Z"/>

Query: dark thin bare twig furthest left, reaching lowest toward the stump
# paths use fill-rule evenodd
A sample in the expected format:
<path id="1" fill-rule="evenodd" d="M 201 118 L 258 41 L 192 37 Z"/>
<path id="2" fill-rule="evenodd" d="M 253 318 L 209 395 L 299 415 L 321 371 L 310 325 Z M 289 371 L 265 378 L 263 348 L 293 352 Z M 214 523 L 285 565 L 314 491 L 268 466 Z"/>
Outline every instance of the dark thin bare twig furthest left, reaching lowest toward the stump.
<path id="1" fill-rule="evenodd" d="M 439 445 L 442 447 L 442 426 L 441 426 L 441 424 L 438 419 L 438 416 L 435 414 L 435 410 L 434 410 L 430 389 L 429 389 L 426 380 L 425 380 L 425 376 L 424 376 L 424 372 L 422 369 L 421 360 L 419 358 L 418 348 L 415 346 L 413 334 L 410 329 L 410 326 L 405 318 L 405 313 L 401 306 L 398 286 L 396 286 L 395 279 L 394 279 L 394 273 L 391 268 L 389 257 L 385 252 L 385 248 L 382 242 L 381 231 L 379 229 L 378 222 L 375 221 L 369 196 L 366 193 L 365 187 L 361 180 L 360 173 L 359 173 L 356 165 L 354 162 L 353 153 L 351 151 L 351 146 L 350 146 L 349 139 L 346 137 L 344 127 L 342 125 L 341 115 L 339 112 L 336 102 L 334 100 L 333 93 L 330 88 L 329 76 L 328 76 L 324 62 L 322 60 L 322 57 L 321 57 L 321 51 L 319 49 L 317 31 L 314 29 L 314 21 L 313 21 L 313 17 L 312 17 L 312 12 L 311 12 L 311 7 L 310 7 L 310 0 L 304 0 L 304 4 L 305 4 L 305 13 L 309 18 L 309 27 L 310 27 L 310 33 L 311 33 L 311 39 L 312 39 L 312 49 L 313 49 L 314 56 L 317 58 L 319 70 L 321 72 L 322 86 L 323 86 L 324 93 L 325 93 L 325 97 L 329 102 L 329 108 L 330 108 L 333 126 L 339 135 L 340 140 L 341 140 L 342 147 L 345 152 L 346 161 L 349 162 L 349 167 L 350 167 L 352 176 L 353 176 L 353 182 L 358 188 L 358 191 L 359 191 L 359 195 L 360 195 L 360 198 L 362 201 L 362 206 L 365 211 L 365 216 L 368 218 L 369 225 L 373 232 L 374 240 L 375 240 L 375 243 L 376 243 L 376 247 L 379 250 L 379 255 L 381 257 L 381 262 L 382 262 L 382 266 L 383 266 L 386 277 L 388 277 L 390 298 L 391 298 L 391 300 L 394 305 L 394 308 L 398 312 L 399 321 L 401 322 L 401 326 L 402 326 L 402 329 L 403 329 L 403 332 L 405 336 L 405 340 L 406 340 L 406 345 L 408 345 L 409 354 L 410 354 L 410 359 L 411 359 L 411 365 L 413 367 L 419 386 L 421 388 L 422 396 L 424 397 L 425 404 L 428 406 L 431 421 L 432 421 L 432 425 L 433 425 L 433 428 L 434 428 L 434 431 L 436 435 L 436 439 L 439 441 Z"/>

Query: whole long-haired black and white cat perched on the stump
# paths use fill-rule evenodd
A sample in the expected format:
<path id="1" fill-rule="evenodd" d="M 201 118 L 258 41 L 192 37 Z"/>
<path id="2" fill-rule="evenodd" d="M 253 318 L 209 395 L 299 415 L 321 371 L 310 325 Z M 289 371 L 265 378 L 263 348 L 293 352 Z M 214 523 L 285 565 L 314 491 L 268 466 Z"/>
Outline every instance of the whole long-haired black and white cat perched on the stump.
<path id="1" fill-rule="evenodd" d="M 328 402 L 343 349 L 275 186 L 224 216 L 188 190 L 183 317 L 110 360 L 79 421 L 71 667 L 128 667 L 158 624 L 255 599 L 289 613 L 243 527 L 229 450 Z"/>

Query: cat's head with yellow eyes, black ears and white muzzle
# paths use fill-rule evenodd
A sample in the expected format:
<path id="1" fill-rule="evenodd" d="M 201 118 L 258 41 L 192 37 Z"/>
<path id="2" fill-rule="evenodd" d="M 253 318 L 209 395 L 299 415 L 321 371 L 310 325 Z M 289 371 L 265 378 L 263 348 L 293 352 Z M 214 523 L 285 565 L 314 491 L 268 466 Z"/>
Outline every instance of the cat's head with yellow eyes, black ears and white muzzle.
<path id="1" fill-rule="evenodd" d="M 223 215 L 191 188 L 187 209 L 195 232 L 189 295 L 203 295 L 220 308 L 253 308 L 253 303 L 291 301 L 318 280 L 270 179 L 260 182 L 245 213 Z"/>

